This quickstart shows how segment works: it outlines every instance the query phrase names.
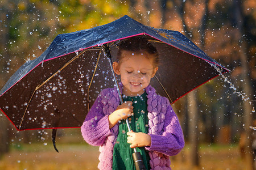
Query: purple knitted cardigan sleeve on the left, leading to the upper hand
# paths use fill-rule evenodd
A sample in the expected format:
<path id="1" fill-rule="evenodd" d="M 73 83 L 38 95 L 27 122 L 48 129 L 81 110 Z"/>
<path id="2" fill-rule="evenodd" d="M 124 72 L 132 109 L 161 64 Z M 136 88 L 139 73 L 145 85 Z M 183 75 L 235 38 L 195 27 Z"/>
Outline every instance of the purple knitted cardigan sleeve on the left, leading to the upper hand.
<path id="1" fill-rule="evenodd" d="M 81 126 L 82 137 L 93 146 L 104 144 L 108 135 L 111 134 L 108 114 L 104 114 L 103 108 L 102 97 L 99 95 Z"/>

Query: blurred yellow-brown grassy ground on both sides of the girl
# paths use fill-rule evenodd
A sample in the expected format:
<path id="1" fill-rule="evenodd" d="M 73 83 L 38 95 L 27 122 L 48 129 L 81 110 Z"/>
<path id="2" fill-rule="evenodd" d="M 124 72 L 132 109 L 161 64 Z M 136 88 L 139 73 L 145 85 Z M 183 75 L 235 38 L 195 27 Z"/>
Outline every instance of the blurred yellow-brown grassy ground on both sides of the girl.
<path id="1" fill-rule="evenodd" d="M 98 147 L 80 142 L 57 143 L 57 148 L 59 153 L 54 150 L 51 142 L 47 145 L 13 144 L 10 152 L 0 160 L 0 169 L 97 169 Z M 172 169 L 246 169 L 236 145 L 201 145 L 199 167 L 191 166 L 189 153 L 190 147 L 187 145 L 180 154 L 172 156 Z"/>

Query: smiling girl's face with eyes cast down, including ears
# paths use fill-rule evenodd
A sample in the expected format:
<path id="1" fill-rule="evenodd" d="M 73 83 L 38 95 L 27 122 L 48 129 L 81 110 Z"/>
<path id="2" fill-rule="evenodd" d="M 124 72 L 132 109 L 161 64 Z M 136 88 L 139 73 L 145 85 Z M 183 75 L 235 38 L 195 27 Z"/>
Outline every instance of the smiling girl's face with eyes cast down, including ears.
<path id="1" fill-rule="evenodd" d="M 137 96 L 144 93 L 144 88 L 150 84 L 158 67 L 154 67 L 152 57 L 148 53 L 135 54 L 130 51 L 122 52 L 122 61 L 113 62 L 115 74 L 121 76 L 123 95 Z"/>

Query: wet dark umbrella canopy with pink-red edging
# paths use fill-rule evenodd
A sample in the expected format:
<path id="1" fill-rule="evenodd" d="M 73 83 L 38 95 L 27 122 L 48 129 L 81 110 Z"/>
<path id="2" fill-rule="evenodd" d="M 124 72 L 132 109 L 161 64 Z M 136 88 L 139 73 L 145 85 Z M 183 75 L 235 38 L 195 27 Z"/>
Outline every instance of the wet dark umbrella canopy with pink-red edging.
<path id="1" fill-rule="evenodd" d="M 151 85 L 171 103 L 229 71 L 180 32 L 147 27 L 129 16 L 112 23 L 58 35 L 38 58 L 24 63 L 0 92 L 1 111 L 17 130 L 80 128 L 103 88 L 114 87 L 108 59 L 118 43 L 142 36 L 156 46 L 160 66 Z M 164 88 L 162 88 L 162 86 Z"/>

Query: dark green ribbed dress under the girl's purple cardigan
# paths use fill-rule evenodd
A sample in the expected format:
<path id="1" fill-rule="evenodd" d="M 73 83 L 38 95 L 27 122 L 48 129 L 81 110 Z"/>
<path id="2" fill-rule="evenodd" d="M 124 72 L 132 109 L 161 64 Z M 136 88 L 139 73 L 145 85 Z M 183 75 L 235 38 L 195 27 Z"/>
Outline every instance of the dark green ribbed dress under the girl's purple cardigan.
<path id="1" fill-rule="evenodd" d="M 148 133 L 148 118 L 147 118 L 147 97 L 146 92 L 141 96 L 125 96 L 123 101 L 133 101 L 134 115 L 128 118 L 131 130 L 134 132 Z M 114 145 L 113 150 L 113 169 L 135 169 L 133 157 L 134 149 L 130 148 L 130 144 L 127 143 L 128 128 L 126 121 L 119 122 L 119 132 L 117 136 L 117 142 Z M 137 147 L 137 151 L 141 152 L 142 160 L 146 169 L 150 169 L 149 161 L 150 156 L 148 151 L 144 147 Z"/>

